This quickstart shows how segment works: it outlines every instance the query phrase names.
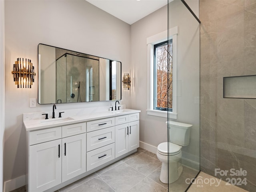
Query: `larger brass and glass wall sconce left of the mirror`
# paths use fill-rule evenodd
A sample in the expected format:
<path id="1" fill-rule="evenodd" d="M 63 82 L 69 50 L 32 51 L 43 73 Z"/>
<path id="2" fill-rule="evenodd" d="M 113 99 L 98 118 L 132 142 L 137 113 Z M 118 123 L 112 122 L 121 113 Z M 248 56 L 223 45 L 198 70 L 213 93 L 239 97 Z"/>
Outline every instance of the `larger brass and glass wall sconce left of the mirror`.
<path id="1" fill-rule="evenodd" d="M 34 76 L 36 73 L 34 72 L 34 66 L 31 63 L 31 60 L 22 58 L 17 58 L 15 64 L 13 64 L 13 80 L 17 85 L 17 88 L 31 88 L 31 85 L 34 82 Z"/>

